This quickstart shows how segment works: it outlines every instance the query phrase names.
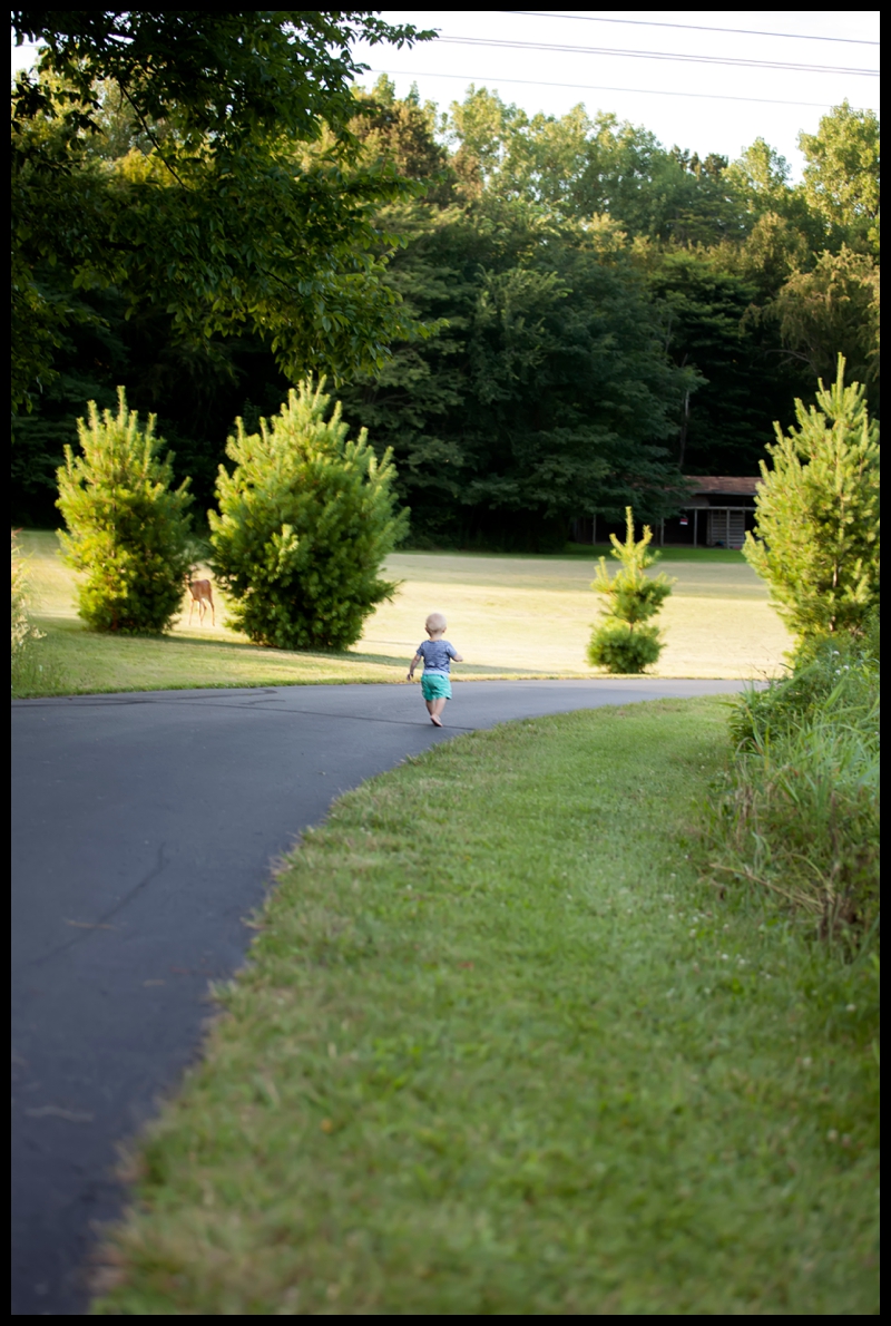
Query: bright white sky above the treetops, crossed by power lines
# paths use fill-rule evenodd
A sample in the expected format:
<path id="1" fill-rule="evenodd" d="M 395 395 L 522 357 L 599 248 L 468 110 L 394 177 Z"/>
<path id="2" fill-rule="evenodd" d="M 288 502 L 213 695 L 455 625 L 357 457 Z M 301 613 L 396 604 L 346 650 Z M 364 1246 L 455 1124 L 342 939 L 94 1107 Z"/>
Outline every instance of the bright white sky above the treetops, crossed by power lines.
<path id="1" fill-rule="evenodd" d="M 390 23 L 435 28 L 440 37 L 575 49 L 473 46 L 448 41 L 423 42 L 403 50 L 359 48 L 358 56 L 371 66 L 363 80 L 366 86 L 378 73 L 387 73 L 399 95 L 416 82 L 422 101 L 435 101 L 442 110 L 463 99 L 471 82 L 497 89 L 504 101 L 516 102 L 529 114 L 541 110 L 562 115 L 582 102 L 591 114 L 610 110 L 619 119 L 643 125 L 666 147 L 678 143 L 700 156 L 713 151 L 731 160 L 753 139 L 765 138 L 788 159 L 793 180 L 800 178 L 803 164 L 797 149 L 800 130 L 813 133 L 821 115 L 846 97 L 857 107 L 878 110 L 879 105 L 878 78 L 857 72 L 826 72 L 826 66 L 878 69 L 878 45 L 868 44 L 879 40 L 878 9 L 826 13 L 800 9 L 561 9 L 538 16 L 508 9 L 410 9 L 382 11 L 381 16 Z M 611 21 L 591 21 L 594 19 Z M 647 27 L 646 23 L 680 27 Z M 701 28 L 724 30 L 704 32 Z M 769 36 L 729 32 L 732 28 Z M 833 40 L 809 40 L 813 37 Z M 601 48 L 601 53 L 578 48 Z M 659 53 L 668 58 L 607 54 L 602 53 L 603 48 Z M 807 72 L 709 65 L 676 58 L 682 54 L 821 68 Z M 32 48 L 13 46 L 13 72 L 32 61 Z M 693 93 L 696 95 L 689 95 Z M 778 105 L 782 102 L 792 105 Z"/>

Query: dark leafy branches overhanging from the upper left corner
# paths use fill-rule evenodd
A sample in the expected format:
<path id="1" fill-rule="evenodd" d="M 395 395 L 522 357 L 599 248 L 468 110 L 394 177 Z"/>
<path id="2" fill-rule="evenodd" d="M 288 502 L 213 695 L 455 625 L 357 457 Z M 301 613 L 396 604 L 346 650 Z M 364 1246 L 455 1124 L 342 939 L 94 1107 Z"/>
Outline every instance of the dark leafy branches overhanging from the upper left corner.
<path id="1" fill-rule="evenodd" d="M 402 320 L 375 211 L 414 186 L 347 168 L 350 44 L 414 28 L 370 11 L 19 9 L 13 30 L 44 42 L 12 95 L 13 404 L 97 288 L 130 316 L 163 309 L 183 342 L 247 326 L 292 377 L 382 361 Z"/>

